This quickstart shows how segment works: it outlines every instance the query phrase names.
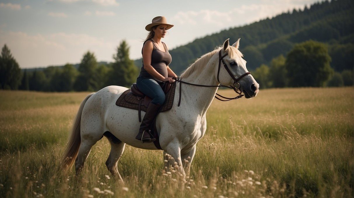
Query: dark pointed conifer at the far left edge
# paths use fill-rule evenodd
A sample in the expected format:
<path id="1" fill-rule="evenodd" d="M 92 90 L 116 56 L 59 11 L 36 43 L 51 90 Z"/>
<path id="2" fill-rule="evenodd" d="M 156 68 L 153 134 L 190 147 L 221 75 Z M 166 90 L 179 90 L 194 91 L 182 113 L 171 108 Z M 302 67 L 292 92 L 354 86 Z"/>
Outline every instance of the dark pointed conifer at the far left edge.
<path id="1" fill-rule="evenodd" d="M 5 44 L 0 56 L 0 89 L 17 89 L 21 83 L 21 70 Z"/>

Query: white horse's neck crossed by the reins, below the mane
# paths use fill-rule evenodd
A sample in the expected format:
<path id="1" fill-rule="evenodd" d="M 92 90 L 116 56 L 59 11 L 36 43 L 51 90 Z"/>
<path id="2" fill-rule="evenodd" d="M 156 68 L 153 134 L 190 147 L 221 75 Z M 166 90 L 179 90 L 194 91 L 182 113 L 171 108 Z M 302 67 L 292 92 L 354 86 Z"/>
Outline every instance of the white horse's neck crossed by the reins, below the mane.
<path id="1" fill-rule="evenodd" d="M 193 72 L 188 77 L 182 78 L 182 81 L 198 85 L 219 85 L 215 79 L 215 65 L 217 59 L 211 57 L 206 65 L 203 65 L 201 72 Z M 199 87 L 182 83 L 182 103 L 187 102 L 198 114 L 205 115 L 211 105 L 218 87 Z"/>

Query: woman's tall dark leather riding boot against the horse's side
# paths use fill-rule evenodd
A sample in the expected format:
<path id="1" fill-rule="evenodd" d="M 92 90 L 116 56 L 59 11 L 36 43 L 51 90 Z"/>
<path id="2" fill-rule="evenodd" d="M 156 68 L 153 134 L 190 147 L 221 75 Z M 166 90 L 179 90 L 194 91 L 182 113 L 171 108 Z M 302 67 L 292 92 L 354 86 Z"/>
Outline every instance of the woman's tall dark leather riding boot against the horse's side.
<path id="1" fill-rule="evenodd" d="M 142 143 L 153 142 L 156 140 L 156 138 L 153 138 L 152 134 L 150 134 L 150 126 L 156 114 L 158 113 L 160 107 L 161 107 L 160 104 L 157 105 L 153 103 L 149 104 L 145 116 L 141 121 L 139 133 L 135 137 L 135 139 L 141 140 Z"/>

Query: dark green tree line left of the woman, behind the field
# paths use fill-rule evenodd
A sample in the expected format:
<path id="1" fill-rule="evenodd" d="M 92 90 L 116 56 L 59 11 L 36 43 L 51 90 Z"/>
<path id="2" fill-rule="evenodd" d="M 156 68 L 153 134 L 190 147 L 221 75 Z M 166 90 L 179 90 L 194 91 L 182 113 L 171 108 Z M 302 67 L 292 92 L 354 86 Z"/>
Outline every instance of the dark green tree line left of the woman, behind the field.
<path id="1" fill-rule="evenodd" d="M 109 85 L 132 85 L 138 76 L 138 69 L 129 58 L 129 46 L 125 40 L 116 48 L 113 59 L 113 63 L 99 64 L 95 54 L 87 51 L 77 68 L 65 64 L 21 72 L 5 44 L 0 57 L 0 89 L 70 92 L 97 91 Z"/>

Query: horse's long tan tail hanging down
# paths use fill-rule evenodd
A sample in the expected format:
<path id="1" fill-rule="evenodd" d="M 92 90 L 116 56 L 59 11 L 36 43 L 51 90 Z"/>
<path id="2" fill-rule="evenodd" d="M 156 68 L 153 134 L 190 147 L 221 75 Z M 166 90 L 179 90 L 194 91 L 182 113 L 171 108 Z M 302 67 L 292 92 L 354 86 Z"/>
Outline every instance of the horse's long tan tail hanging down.
<path id="1" fill-rule="evenodd" d="M 73 128 L 71 129 L 71 135 L 68 140 L 67 147 L 65 149 L 64 156 L 61 161 L 60 167 L 66 171 L 68 170 L 74 163 L 76 156 L 79 152 L 79 147 L 81 144 L 81 136 L 80 136 L 80 125 L 81 125 L 81 114 L 82 109 L 84 109 L 86 101 L 95 93 L 91 93 L 88 95 L 82 102 L 79 108 L 78 113 L 76 114 Z"/>

